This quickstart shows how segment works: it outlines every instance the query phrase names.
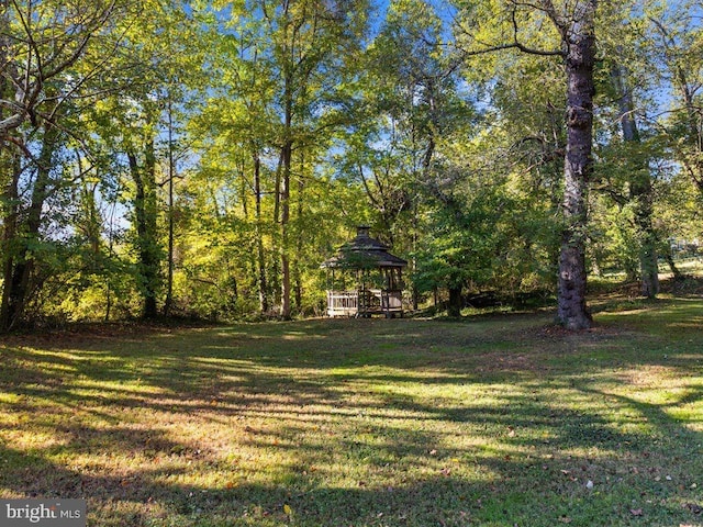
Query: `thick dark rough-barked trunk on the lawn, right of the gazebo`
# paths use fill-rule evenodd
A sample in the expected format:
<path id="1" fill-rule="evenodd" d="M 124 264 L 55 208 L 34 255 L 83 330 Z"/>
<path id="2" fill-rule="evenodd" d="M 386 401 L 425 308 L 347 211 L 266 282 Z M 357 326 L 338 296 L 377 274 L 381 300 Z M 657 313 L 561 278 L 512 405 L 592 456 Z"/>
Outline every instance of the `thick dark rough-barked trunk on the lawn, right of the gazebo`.
<path id="1" fill-rule="evenodd" d="M 592 171 L 595 7 L 595 0 L 577 4 L 574 19 L 565 29 L 567 153 L 557 317 L 569 329 L 585 329 L 592 323 L 585 305 L 585 202 Z"/>

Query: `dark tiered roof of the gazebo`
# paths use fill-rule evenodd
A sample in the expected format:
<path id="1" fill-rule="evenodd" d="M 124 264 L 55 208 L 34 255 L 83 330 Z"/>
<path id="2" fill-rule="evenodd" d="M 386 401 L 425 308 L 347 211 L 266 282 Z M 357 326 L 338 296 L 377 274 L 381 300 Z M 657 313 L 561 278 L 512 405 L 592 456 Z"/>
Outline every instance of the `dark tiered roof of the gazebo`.
<path id="1" fill-rule="evenodd" d="M 391 255 L 389 247 L 369 236 L 370 227 L 357 227 L 356 237 L 344 244 L 337 254 L 325 260 L 322 268 L 373 269 L 406 267 L 408 261 Z"/>

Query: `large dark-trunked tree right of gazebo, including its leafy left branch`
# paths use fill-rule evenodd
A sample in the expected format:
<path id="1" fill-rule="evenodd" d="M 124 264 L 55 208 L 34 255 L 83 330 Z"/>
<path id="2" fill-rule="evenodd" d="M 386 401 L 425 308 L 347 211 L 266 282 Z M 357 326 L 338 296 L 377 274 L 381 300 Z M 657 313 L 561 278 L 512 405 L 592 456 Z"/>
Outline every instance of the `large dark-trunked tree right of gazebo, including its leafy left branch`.
<path id="1" fill-rule="evenodd" d="M 595 66 L 596 0 L 507 0 L 489 5 L 470 5 L 470 16 L 458 26 L 459 44 L 467 58 L 514 49 L 561 59 L 567 92 L 566 153 L 563 171 L 563 229 L 559 255 L 557 319 L 569 329 L 591 326 L 585 304 L 587 183 L 592 171 L 593 94 Z M 477 20 L 489 25 L 484 34 Z M 499 22 L 491 23 L 491 20 Z M 536 27 L 549 23 L 554 32 Z M 476 30 L 476 31 L 475 31 Z M 511 35 L 504 41 L 503 35 Z M 484 44 L 484 37 L 490 44 Z M 555 42 L 556 38 L 556 42 Z M 536 41 L 536 42 L 535 42 Z M 557 46 L 548 47 L 557 44 Z M 543 47 L 538 47 L 538 46 Z"/>

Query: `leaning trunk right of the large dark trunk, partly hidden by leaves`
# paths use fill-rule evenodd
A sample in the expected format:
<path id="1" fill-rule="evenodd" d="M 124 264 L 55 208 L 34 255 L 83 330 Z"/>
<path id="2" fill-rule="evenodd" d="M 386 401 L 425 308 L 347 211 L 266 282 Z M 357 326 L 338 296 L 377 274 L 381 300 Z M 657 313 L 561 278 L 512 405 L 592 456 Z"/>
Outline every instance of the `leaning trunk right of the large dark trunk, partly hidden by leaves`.
<path id="1" fill-rule="evenodd" d="M 635 104 L 624 69 L 615 66 L 612 71 L 613 83 L 617 90 L 620 122 L 625 144 L 640 143 Z M 647 159 L 634 156 L 634 165 L 629 170 L 629 199 L 635 206 L 635 225 L 639 240 L 640 290 L 644 296 L 654 299 L 659 293 L 659 265 L 657 261 L 657 236 L 651 223 L 652 189 Z"/>

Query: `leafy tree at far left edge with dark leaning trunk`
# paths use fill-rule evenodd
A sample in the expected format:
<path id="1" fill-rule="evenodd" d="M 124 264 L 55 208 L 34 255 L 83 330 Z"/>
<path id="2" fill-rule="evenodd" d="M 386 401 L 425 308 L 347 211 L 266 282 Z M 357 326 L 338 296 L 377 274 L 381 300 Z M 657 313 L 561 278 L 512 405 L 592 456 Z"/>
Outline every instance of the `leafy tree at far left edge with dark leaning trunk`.
<path id="1" fill-rule="evenodd" d="M 33 283 L 44 208 L 62 186 L 55 158 L 75 134 L 63 122 L 102 71 L 76 68 L 91 44 L 122 15 L 115 1 L 0 3 L 0 156 L 3 194 L 3 288 L 0 330 L 24 316 Z M 13 150 L 14 149 L 14 150 Z M 38 153 L 38 154 L 36 154 Z M 23 200 L 24 191 L 30 195 Z"/>

